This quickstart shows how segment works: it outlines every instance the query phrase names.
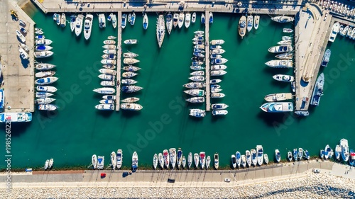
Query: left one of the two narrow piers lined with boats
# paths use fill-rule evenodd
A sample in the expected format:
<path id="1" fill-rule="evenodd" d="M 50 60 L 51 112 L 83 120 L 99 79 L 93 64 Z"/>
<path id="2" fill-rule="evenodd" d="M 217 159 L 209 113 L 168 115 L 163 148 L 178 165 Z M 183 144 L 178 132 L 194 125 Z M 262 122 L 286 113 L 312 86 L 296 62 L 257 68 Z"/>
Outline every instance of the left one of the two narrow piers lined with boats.
<path id="1" fill-rule="evenodd" d="M 121 52 L 122 52 L 122 12 L 117 13 L 117 74 L 116 74 L 116 111 L 119 111 L 119 103 L 121 100 Z"/>

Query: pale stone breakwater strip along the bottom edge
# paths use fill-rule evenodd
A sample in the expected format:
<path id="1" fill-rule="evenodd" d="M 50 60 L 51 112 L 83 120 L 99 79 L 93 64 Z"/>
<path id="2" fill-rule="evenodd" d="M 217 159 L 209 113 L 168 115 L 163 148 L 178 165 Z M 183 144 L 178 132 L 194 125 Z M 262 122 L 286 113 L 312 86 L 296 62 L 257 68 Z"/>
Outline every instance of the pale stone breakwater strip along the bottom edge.
<path id="1" fill-rule="evenodd" d="M 12 188 L 11 195 L 0 190 L 0 198 L 355 198 L 355 180 L 322 174 L 263 183 L 245 182 L 234 186 L 233 182 L 221 182 L 216 187 L 77 187 Z M 26 186 L 23 184 L 22 186 Z M 60 187 L 62 186 L 62 187 Z"/>

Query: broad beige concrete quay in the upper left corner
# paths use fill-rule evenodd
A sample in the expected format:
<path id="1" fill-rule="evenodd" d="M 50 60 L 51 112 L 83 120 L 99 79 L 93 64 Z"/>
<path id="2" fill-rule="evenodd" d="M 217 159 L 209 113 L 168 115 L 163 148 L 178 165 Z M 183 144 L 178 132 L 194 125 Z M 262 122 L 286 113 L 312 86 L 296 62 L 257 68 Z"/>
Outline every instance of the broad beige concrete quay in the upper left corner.
<path id="1" fill-rule="evenodd" d="M 22 9 L 13 1 L 6 1 L 1 6 L 1 24 L 4 24 L 0 30 L 0 55 L 3 65 L 1 77 L 1 89 L 4 89 L 5 104 L 4 112 L 33 112 L 34 111 L 34 21 L 26 15 Z M 30 48 L 28 52 L 29 59 L 23 60 L 18 52 L 20 43 L 15 30 L 19 30 L 18 21 L 14 21 L 10 15 L 13 9 L 18 14 L 18 19 L 26 23 L 27 33 L 23 33 L 26 38 L 26 45 Z M 5 25 L 6 24 L 6 25 Z"/>

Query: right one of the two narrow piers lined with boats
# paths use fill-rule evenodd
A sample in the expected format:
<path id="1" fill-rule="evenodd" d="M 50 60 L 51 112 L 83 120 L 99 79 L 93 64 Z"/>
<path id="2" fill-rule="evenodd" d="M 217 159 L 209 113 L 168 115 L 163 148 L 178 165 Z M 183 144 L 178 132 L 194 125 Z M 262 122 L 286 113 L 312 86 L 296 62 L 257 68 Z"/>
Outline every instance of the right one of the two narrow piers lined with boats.
<path id="1" fill-rule="evenodd" d="M 209 86 L 209 11 L 206 11 L 204 13 L 204 16 L 206 17 L 207 20 L 205 20 L 204 23 L 204 36 L 206 38 L 206 43 L 204 45 L 206 49 L 206 55 L 204 56 L 205 59 L 205 64 L 206 64 L 206 110 L 209 111 L 211 110 L 211 87 Z"/>

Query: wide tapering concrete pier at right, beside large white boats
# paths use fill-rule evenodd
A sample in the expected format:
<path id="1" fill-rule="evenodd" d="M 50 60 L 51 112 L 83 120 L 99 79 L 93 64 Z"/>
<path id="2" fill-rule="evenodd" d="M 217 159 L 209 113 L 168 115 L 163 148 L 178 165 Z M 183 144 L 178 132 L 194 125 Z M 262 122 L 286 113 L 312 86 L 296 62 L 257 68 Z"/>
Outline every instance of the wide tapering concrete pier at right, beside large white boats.
<path id="1" fill-rule="evenodd" d="M 317 8 L 306 4 L 295 28 L 295 110 L 308 110 L 310 105 L 332 26 L 332 16 L 324 17 Z"/>

